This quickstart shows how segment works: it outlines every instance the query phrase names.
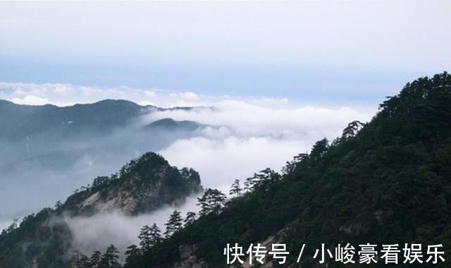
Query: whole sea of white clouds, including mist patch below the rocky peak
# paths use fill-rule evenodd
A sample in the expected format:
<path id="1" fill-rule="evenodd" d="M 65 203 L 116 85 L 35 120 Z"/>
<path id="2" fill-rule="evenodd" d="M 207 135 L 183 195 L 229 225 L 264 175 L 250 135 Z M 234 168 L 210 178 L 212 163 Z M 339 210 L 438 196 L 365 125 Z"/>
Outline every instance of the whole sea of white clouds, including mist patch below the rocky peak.
<path id="1" fill-rule="evenodd" d="M 244 180 L 266 167 L 280 171 L 285 162 L 296 154 L 309 152 L 317 140 L 333 140 L 341 134 L 347 123 L 354 120 L 369 121 L 376 111 L 376 107 L 358 109 L 331 107 L 327 104 L 301 105 L 285 97 L 204 96 L 194 92 L 155 88 L 70 84 L 0 83 L 0 99 L 16 104 L 58 106 L 91 103 L 101 99 L 128 99 L 141 105 L 197 107 L 191 110 L 157 111 L 145 114 L 140 121 L 145 124 L 161 118 L 173 118 L 206 125 L 201 135 L 175 140 L 158 150 L 158 153 L 172 165 L 196 169 L 200 173 L 202 185 L 218 188 L 225 193 L 228 193 L 235 179 Z M 89 169 L 95 166 L 96 163 L 89 162 Z M 112 171 L 119 168 L 111 166 Z M 48 185 L 46 182 L 35 183 Z M 58 190 L 61 193 L 62 189 Z M 70 193 L 69 189 L 67 191 Z M 41 201 L 54 204 L 56 200 Z M 114 212 L 65 220 L 74 233 L 75 249 L 87 254 L 92 250 L 101 250 L 110 243 L 118 245 L 121 250 L 126 245 L 138 243 L 137 234 L 141 226 L 156 222 L 163 227 L 173 209 L 175 207 L 165 207 L 159 212 L 139 217 Z M 196 210 L 195 197 L 178 209 L 183 212 Z M 4 226 L 6 222 L 0 221 Z"/>

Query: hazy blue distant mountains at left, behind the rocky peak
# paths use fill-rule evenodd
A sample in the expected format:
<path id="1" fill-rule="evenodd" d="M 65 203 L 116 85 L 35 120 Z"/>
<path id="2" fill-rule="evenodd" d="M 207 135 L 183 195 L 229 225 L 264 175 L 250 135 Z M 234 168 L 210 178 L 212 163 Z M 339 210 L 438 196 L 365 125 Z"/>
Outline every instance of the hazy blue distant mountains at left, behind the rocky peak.
<path id="1" fill-rule="evenodd" d="M 63 199 L 90 178 L 113 173 L 145 152 L 203 135 L 210 126 L 153 116 L 190 109 L 196 108 L 112 99 L 64 107 L 0 100 L 0 222 Z M 35 186 L 24 192 L 27 185 Z M 1 205 L 12 197 L 15 206 Z"/>

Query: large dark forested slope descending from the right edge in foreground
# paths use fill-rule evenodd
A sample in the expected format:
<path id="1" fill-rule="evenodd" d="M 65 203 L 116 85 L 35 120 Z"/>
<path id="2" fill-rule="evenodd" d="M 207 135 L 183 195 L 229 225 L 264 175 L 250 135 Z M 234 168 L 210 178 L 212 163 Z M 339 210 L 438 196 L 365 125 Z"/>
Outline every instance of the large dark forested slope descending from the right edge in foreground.
<path id="1" fill-rule="evenodd" d="M 226 267 L 227 243 L 247 250 L 264 240 L 287 244 L 287 267 L 299 267 L 302 244 L 303 268 L 350 265 L 329 257 L 319 264 L 313 256 L 321 243 L 332 252 L 338 243 L 372 243 L 379 252 L 383 244 L 443 244 L 449 259 L 451 75 L 408 83 L 358 128 L 353 122 L 341 138 L 316 142 L 282 176 L 267 176 L 220 214 L 200 217 L 152 250 L 130 256 L 125 267 Z M 377 264 L 359 264 L 357 252 L 354 260 L 351 267 L 390 266 L 380 257 Z M 279 266 L 267 261 L 265 267 Z M 404 265 L 449 267 L 448 262 Z"/>

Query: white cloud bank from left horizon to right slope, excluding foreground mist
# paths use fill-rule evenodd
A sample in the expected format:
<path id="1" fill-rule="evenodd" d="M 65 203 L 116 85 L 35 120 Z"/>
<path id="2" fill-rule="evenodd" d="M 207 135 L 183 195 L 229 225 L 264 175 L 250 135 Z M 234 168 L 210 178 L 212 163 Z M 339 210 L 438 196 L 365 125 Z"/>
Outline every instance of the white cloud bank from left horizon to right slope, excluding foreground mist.
<path id="1" fill-rule="evenodd" d="M 143 116 L 142 123 L 174 118 L 213 126 L 204 128 L 201 137 L 178 140 L 160 153 L 171 164 L 199 170 L 204 185 L 218 188 L 266 167 L 278 171 L 295 154 L 310 150 L 316 140 L 333 140 L 350 121 L 369 121 L 373 114 L 350 107 L 297 106 L 283 97 L 246 99 L 155 88 L 70 84 L 0 83 L 0 97 L 27 104 L 111 98 L 141 105 L 199 106 L 189 111 L 153 112 Z"/>

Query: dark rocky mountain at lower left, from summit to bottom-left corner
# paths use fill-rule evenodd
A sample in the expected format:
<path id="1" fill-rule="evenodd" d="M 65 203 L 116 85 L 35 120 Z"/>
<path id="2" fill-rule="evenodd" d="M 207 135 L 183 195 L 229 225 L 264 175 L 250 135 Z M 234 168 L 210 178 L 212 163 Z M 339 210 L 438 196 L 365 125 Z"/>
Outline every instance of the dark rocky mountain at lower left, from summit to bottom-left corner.
<path id="1" fill-rule="evenodd" d="M 4 231 L 0 236 L 0 267 L 63 267 L 71 253 L 67 216 L 113 210 L 124 214 L 152 212 L 163 205 L 181 204 L 199 190 L 196 171 L 177 169 L 149 152 L 116 174 L 95 178 L 92 185 L 76 190 L 55 209 L 43 209 L 23 219 L 17 228 Z"/>

